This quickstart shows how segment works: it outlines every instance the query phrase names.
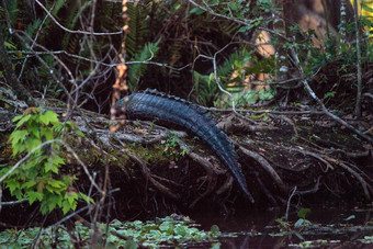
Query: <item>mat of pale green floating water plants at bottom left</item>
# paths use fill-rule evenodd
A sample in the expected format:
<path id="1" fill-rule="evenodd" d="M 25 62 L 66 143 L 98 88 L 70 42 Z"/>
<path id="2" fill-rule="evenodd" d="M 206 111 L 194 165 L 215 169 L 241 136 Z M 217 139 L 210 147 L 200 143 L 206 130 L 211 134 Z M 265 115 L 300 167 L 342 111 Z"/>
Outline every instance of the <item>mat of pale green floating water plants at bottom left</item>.
<path id="1" fill-rule="evenodd" d="M 168 246 L 188 246 L 189 242 L 211 242 L 216 241 L 221 236 L 221 231 L 216 225 L 212 226 L 211 231 L 204 231 L 193 226 L 193 220 L 188 217 L 176 219 L 170 216 L 165 218 L 156 218 L 155 222 L 127 222 L 121 223 L 115 220 L 109 224 L 106 245 L 101 245 L 102 248 L 138 248 L 138 244 L 147 248 L 159 248 L 161 245 Z M 106 231 L 105 224 L 98 224 L 100 230 Z M 60 229 L 63 228 L 63 229 Z M 49 248 L 58 241 L 58 248 L 74 248 L 71 238 L 63 226 L 59 229 L 47 228 L 43 230 L 39 237 L 39 245 Z M 81 223 L 76 223 L 76 231 L 79 233 L 82 244 L 88 245 L 90 238 L 90 227 L 82 226 Z M 116 231 L 128 237 L 128 240 L 123 240 L 113 235 Z M 7 248 L 30 248 L 38 237 L 39 228 L 27 228 L 21 231 L 7 229 L 0 233 L 0 247 Z M 103 241 L 100 241 L 99 244 Z M 218 247 L 215 247 L 218 248 Z"/>

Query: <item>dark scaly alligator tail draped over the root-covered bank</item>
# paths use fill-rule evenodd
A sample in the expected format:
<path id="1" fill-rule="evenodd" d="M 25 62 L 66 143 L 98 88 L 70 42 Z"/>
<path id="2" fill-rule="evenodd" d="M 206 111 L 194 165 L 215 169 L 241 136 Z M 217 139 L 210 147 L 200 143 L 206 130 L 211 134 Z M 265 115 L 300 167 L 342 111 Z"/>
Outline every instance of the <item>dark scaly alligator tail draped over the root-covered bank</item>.
<path id="1" fill-rule="evenodd" d="M 151 121 L 166 127 L 187 129 L 200 137 L 230 170 L 249 201 L 255 202 L 228 136 L 216 126 L 216 122 L 206 114 L 205 109 L 155 89 L 133 93 L 118 100 L 116 104 L 124 107 L 128 120 Z"/>

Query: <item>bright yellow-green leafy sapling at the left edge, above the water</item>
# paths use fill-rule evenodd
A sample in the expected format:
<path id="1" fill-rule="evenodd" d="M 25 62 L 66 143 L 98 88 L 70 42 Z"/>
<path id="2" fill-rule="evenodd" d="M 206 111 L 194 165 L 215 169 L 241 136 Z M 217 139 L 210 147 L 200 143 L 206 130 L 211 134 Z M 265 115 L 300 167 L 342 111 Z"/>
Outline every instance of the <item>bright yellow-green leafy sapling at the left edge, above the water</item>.
<path id="1" fill-rule="evenodd" d="M 15 129 L 10 135 L 13 157 L 30 156 L 3 181 L 5 189 L 18 200 L 29 199 L 29 203 L 41 202 L 41 212 L 46 214 L 57 206 L 64 214 L 76 210 L 78 199 L 91 200 L 78 193 L 72 186 L 76 176 L 63 173 L 65 160 L 60 157 L 60 139 L 64 132 L 74 128 L 71 122 L 60 123 L 52 111 L 29 109 L 23 115 L 15 116 Z M 43 145 L 44 144 L 44 145 Z M 4 176 L 12 167 L 0 169 Z"/>

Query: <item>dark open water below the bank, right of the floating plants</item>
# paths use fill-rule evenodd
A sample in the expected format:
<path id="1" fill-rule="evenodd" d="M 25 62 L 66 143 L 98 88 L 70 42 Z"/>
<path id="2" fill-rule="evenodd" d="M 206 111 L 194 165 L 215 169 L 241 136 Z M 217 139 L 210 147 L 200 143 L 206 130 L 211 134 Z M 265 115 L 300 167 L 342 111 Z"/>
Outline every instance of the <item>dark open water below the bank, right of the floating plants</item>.
<path id="1" fill-rule="evenodd" d="M 205 230 L 217 225 L 222 231 L 221 248 L 301 248 L 301 242 L 304 246 L 315 240 L 323 242 L 308 248 L 373 248 L 373 238 L 370 245 L 361 242 L 365 236 L 373 236 L 372 208 L 310 210 L 306 219 L 312 228 L 294 227 L 299 219 L 296 212 L 289 214 L 290 227 L 281 226 L 276 219 L 283 218 L 285 211 L 250 212 L 229 217 L 194 214 L 191 218 Z M 287 233 L 280 234 L 281 229 Z"/>

